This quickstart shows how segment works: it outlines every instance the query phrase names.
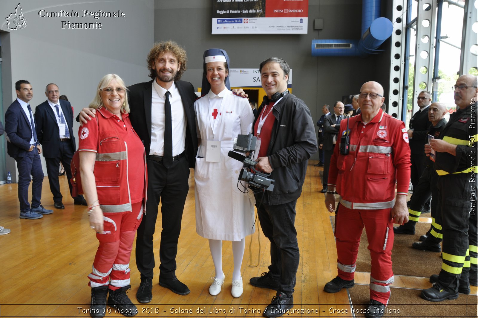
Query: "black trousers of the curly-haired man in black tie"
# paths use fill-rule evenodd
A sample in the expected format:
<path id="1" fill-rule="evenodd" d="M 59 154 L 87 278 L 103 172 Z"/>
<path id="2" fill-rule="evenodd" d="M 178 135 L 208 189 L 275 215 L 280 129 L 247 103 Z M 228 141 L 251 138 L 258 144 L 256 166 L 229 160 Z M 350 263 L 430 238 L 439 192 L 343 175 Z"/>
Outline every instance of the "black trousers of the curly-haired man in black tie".
<path id="1" fill-rule="evenodd" d="M 153 234 L 161 201 L 161 241 L 159 245 L 160 276 L 172 278 L 176 271 L 178 238 L 181 219 L 189 190 L 189 163 L 185 157 L 174 160 L 166 169 L 163 162 L 147 160 L 148 189 L 146 215 L 143 216 L 136 238 L 136 266 L 141 279 L 153 278 Z"/>

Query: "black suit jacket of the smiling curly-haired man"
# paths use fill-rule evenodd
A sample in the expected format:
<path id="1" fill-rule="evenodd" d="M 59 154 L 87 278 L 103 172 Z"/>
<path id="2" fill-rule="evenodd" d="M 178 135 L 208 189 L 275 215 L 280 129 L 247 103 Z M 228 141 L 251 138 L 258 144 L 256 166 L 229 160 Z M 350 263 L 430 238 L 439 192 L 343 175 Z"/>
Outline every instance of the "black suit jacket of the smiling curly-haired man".
<path id="1" fill-rule="evenodd" d="M 130 120 L 138 136 L 144 144 L 146 155 L 149 155 L 151 147 L 151 97 L 152 81 L 138 83 L 128 87 L 128 102 L 130 103 Z M 197 134 L 196 116 L 194 114 L 194 101 L 197 96 L 191 83 L 178 80 L 174 82 L 181 95 L 183 107 L 187 120 L 185 155 L 189 161 L 189 167 L 194 168 L 196 164 Z"/>

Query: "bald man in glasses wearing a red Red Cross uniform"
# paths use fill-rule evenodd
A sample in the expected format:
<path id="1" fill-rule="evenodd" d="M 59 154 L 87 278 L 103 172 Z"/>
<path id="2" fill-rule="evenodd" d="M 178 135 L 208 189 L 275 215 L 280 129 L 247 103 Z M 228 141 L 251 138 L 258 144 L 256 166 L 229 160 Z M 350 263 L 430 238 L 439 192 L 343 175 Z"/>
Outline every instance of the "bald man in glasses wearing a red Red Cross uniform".
<path id="1" fill-rule="evenodd" d="M 372 260 L 367 317 L 381 317 L 385 312 L 390 299 L 389 285 L 393 283 L 393 223 L 408 221 L 408 134 L 402 121 L 380 109 L 384 100 L 379 83 L 370 81 L 362 85 L 361 114 L 349 118 L 348 125 L 340 125 L 339 136 L 350 138 L 348 145 L 342 145 L 349 151 L 341 154 L 341 144 L 337 142 L 325 201 L 326 208 L 334 212 L 334 191 L 340 194 L 335 230 L 338 275 L 324 290 L 336 293 L 354 285 L 360 236 L 365 227 Z"/>

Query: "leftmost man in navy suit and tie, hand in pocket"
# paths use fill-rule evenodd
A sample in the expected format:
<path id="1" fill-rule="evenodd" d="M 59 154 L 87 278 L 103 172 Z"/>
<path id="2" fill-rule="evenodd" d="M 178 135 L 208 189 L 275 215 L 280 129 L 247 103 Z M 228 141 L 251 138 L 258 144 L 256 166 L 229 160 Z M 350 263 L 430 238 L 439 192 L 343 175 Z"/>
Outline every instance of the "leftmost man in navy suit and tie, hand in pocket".
<path id="1" fill-rule="evenodd" d="M 34 220 L 53 213 L 53 210 L 45 209 L 40 202 L 43 170 L 39 154 L 42 148 L 36 135 L 32 108 L 28 104 L 33 98 L 33 88 L 28 80 L 21 79 L 15 83 L 15 91 L 17 99 L 5 113 L 7 152 L 17 162 L 20 218 Z M 33 177 L 31 205 L 28 202 L 30 175 Z"/>

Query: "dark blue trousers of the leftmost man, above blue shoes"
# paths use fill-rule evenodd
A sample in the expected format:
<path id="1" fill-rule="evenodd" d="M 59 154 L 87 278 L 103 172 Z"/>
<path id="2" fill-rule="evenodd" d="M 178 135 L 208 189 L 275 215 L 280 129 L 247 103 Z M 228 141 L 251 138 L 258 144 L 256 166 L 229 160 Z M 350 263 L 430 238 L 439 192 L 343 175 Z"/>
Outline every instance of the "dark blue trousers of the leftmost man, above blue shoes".
<path id="1" fill-rule="evenodd" d="M 25 152 L 25 157 L 15 158 L 18 168 L 18 201 L 20 201 L 20 212 L 30 211 L 28 202 L 28 187 L 30 186 L 30 175 L 33 177 L 32 184 L 32 208 L 40 205 L 42 198 L 43 169 L 38 148 Z"/>

